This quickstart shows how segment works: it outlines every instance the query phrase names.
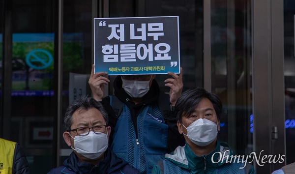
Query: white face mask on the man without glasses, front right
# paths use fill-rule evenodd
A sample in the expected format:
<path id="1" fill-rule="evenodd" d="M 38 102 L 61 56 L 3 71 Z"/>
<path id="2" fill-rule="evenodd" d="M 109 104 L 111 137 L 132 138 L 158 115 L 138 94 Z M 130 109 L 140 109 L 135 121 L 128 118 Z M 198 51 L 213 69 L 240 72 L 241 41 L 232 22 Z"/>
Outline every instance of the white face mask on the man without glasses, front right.
<path id="1" fill-rule="evenodd" d="M 197 119 L 187 128 L 184 125 L 183 127 L 187 130 L 187 138 L 199 146 L 206 146 L 212 143 L 218 133 L 217 124 L 206 118 Z"/>

